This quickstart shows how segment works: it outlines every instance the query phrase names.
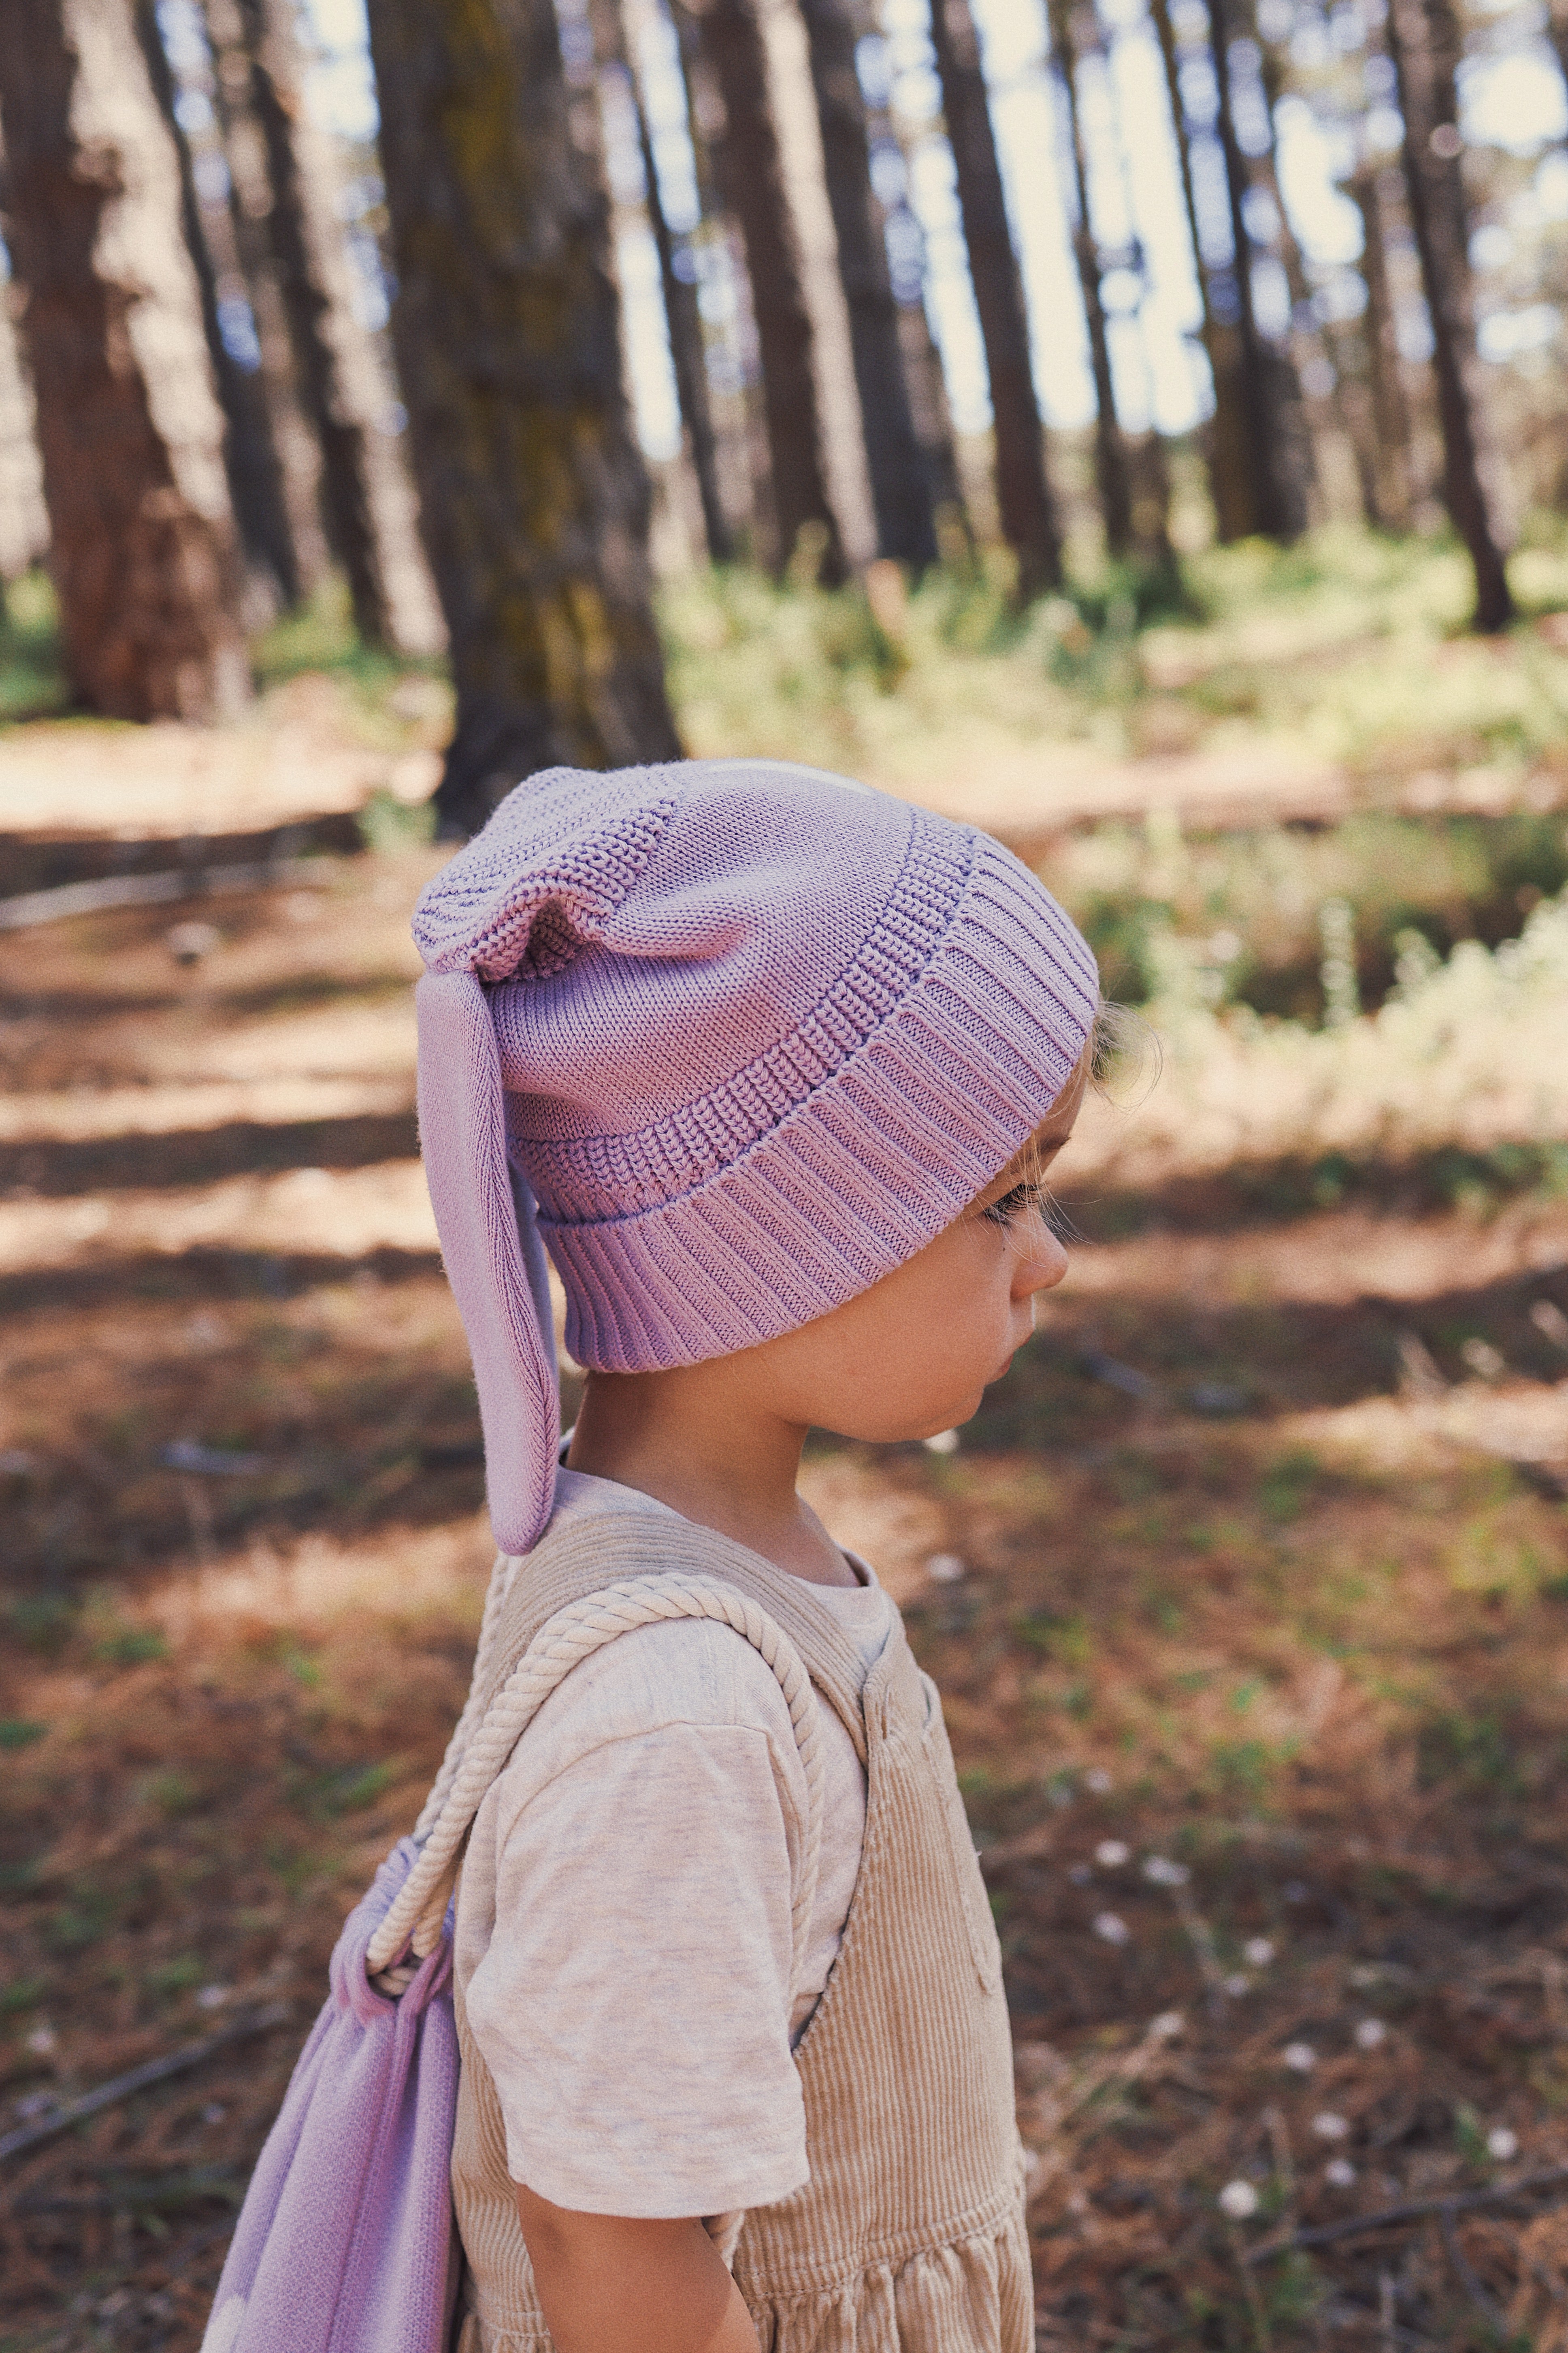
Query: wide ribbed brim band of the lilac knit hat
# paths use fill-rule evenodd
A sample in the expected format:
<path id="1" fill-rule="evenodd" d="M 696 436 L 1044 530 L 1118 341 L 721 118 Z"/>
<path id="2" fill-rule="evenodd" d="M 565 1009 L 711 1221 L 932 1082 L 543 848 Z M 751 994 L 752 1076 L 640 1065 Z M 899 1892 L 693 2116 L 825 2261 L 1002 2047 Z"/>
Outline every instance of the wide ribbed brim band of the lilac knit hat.
<path id="1" fill-rule="evenodd" d="M 1095 1005 L 1077 927 L 978 835 L 952 927 L 914 988 L 748 1153 L 632 1217 L 541 1214 L 569 1353 L 597 1372 L 696 1365 L 870 1289 L 1027 1144 Z"/>

